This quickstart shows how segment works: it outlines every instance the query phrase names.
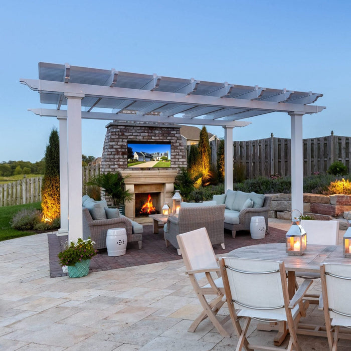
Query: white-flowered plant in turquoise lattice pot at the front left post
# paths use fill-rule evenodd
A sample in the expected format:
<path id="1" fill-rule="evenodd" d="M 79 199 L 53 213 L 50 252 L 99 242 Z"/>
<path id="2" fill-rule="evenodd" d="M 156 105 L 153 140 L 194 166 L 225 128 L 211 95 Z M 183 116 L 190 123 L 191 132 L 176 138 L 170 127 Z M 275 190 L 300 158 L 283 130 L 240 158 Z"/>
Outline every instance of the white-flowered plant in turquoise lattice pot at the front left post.
<path id="1" fill-rule="evenodd" d="M 90 260 L 97 254 L 95 243 L 90 237 L 87 240 L 78 238 L 77 242 L 67 243 L 66 249 L 58 254 L 61 267 L 68 267 L 70 278 L 84 277 L 89 272 Z"/>

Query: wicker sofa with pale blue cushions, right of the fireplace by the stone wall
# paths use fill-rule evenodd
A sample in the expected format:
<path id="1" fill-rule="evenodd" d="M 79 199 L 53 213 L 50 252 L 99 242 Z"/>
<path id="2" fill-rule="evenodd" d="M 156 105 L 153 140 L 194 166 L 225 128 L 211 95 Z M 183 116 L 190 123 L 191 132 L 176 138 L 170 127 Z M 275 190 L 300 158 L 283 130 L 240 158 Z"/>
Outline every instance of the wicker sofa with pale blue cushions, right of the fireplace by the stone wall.
<path id="1" fill-rule="evenodd" d="M 268 229 L 268 211 L 272 198 L 262 194 L 244 193 L 228 190 L 226 194 L 214 195 L 217 204 L 225 204 L 224 228 L 232 231 L 235 238 L 237 230 L 250 230 L 251 217 L 263 216 Z"/>

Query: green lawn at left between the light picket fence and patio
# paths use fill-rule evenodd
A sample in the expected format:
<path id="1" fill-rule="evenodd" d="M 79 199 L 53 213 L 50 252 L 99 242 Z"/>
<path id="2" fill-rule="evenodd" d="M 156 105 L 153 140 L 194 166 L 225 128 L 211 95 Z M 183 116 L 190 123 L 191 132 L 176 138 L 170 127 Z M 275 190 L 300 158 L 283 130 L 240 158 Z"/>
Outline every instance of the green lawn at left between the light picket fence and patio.
<path id="1" fill-rule="evenodd" d="M 36 232 L 23 232 L 11 228 L 11 220 L 22 209 L 41 209 L 41 203 L 0 207 L 0 241 L 34 235 Z"/>

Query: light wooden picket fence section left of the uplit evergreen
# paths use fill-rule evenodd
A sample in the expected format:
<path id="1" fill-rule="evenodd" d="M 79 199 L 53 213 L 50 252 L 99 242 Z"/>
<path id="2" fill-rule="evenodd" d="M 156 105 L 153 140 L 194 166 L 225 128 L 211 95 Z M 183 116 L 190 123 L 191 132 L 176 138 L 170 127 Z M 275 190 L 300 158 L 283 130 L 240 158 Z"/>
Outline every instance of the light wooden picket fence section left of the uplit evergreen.
<path id="1" fill-rule="evenodd" d="M 0 184 L 0 207 L 41 201 L 42 184 L 43 177 L 24 178 L 12 183 Z"/>

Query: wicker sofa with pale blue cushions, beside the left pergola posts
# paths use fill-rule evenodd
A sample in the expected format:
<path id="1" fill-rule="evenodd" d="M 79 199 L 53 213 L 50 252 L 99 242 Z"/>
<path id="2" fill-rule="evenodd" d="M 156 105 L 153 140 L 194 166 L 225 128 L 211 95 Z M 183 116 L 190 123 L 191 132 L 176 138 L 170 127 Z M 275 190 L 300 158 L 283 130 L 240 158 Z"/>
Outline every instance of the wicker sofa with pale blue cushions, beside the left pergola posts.
<path id="1" fill-rule="evenodd" d="M 107 230 L 125 228 L 127 242 L 137 242 L 139 249 L 142 248 L 143 228 L 140 224 L 120 215 L 118 209 L 108 208 L 105 201 L 92 201 L 91 203 L 91 200 L 87 198 L 83 197 L 83 239 L 90 236 L 95 242 L 96 249 L 104 249 L 106 248 Z"/>

